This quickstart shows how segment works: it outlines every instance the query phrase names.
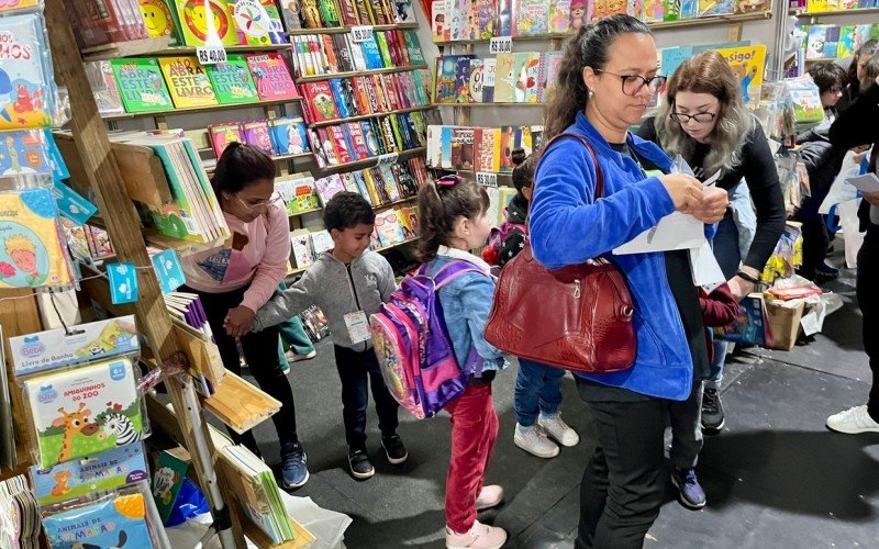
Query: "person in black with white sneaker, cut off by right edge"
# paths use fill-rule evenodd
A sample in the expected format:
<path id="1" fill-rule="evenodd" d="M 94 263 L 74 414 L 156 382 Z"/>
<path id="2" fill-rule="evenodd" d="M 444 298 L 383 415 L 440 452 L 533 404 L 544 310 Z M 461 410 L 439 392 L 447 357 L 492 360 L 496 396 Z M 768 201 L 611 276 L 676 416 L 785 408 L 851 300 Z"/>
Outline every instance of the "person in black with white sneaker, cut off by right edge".
<path id="1" fill-rule="evenodd" d="M 877 173 L 879 156 L 879 55 L 865 66 L 861 92 L 852 107 L 831 126 L 831 143 L 841 148 L 872 144 L 869 170 Z M 827 427 L 849 435 L 879 433 L 879 192 L 864 194 L 858 209 L 861 231 L 866 231 L 858 253 L 857 294 L 864 315 L 864 350 L 870 361 L 872 388 L 867 404 L 827 417 Z"/>

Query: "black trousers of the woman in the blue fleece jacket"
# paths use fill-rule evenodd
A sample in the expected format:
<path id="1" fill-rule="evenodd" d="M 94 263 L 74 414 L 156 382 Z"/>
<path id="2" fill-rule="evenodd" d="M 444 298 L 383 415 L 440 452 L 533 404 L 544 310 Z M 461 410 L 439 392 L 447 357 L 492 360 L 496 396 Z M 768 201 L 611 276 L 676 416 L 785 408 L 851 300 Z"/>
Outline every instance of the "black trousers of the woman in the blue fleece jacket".
<path id="1" fill-rule="evenodd" d="M 580 485 L 576 547 L 641 548 L 665 493 L 663 435 L 669 401 L 588 404 L 599 444 Z"/>

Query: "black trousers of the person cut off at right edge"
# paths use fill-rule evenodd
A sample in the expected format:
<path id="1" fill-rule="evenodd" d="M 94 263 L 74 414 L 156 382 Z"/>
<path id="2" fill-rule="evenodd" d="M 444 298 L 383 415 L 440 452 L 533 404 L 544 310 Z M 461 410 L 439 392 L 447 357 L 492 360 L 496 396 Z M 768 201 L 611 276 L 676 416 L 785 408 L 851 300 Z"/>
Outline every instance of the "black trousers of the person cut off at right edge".
<path id="1" fill-rule="evenodd" d="M 879 227 L 871 227 L 858 253 L 858 306 L 864 315 L 864 350 L 870 360 L 872 386 L 867 412 L 879 422 Z"/>

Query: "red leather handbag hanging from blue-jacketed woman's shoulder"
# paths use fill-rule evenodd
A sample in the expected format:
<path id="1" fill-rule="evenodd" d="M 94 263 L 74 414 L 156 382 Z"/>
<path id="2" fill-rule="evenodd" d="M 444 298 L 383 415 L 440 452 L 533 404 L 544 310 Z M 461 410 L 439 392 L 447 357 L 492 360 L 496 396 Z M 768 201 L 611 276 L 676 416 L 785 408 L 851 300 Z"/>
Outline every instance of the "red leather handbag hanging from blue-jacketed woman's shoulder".
<path id="1" fill-rule="evenodd" d="M 596 165 L 596 198 L 604 176 L 589 142 L 576 134 Z M 552 143 L 552 142 L 550 142 Z M 548 144 L 547 144 L 548 146 Z M 531 244 L 501 271 L 486 340 L 516 357 L 585 373 L 610 373 L 635 362 L 634 306 L 625 277 L 604 258 L 549 270 Z"/>

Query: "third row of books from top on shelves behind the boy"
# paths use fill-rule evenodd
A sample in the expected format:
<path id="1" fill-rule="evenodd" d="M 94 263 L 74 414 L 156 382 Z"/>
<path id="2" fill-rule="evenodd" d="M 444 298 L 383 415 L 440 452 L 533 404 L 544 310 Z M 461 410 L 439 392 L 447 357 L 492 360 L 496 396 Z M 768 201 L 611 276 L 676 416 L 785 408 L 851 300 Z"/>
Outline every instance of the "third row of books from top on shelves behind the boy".
<path id="1" fill-rule="evenodd" d="M 309 123 L 381 114 L 429 103 L 418 71 L 332 78 L 302 85 Z"/>

